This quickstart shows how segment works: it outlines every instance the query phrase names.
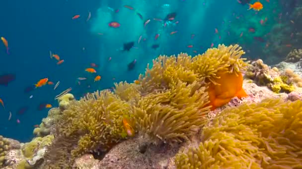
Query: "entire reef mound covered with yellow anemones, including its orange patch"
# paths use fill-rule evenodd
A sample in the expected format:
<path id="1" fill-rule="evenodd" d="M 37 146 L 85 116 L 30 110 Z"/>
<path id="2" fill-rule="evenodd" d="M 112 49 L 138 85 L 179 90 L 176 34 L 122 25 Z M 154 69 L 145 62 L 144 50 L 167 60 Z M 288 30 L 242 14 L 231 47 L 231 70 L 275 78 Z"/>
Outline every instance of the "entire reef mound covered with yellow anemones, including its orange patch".
<path id="1" fill-rule="evenodd" d="M 44 137 L 5 158 L 19 169 L 302 167 L 296 70 L 249 65 L 242 54 L 219 45 L 159 56 L 114 92 L 63 95 L 34 131 Z"/>

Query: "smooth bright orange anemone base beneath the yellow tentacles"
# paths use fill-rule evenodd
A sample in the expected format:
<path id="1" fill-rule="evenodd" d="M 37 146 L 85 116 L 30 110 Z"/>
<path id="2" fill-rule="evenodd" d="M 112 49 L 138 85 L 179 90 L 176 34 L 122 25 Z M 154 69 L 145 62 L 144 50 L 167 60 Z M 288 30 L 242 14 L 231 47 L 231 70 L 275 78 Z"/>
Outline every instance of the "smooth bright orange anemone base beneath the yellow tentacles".
<path id="1" fill-rule="evenodd" d="M 220 85 L 210 83 L 208 88 L 211 110 L 227 104 L 233 97 L 247 96 L 242 88 L 243 77 L 241 73 L 236 75 L 235 73 L 218 72 L 217 76 L 221 78 L 216 79 L 215 82 Z"/>

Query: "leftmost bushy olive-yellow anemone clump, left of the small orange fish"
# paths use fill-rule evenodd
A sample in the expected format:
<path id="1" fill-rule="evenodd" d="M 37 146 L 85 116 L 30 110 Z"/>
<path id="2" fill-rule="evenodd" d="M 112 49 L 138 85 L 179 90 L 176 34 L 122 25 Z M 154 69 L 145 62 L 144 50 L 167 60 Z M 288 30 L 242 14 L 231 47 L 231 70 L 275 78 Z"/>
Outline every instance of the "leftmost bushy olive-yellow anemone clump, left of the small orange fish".
<path id="1" fill-rule="evenodd" d="M 130 105 L 109 90 L 89 93 L 71 102 L 62 117 L 61 132 L 67 137 L 79 135 L 74 157 L 94 150 L 107 150 L 127 136 L 123 115 L 130 115 Z"/>

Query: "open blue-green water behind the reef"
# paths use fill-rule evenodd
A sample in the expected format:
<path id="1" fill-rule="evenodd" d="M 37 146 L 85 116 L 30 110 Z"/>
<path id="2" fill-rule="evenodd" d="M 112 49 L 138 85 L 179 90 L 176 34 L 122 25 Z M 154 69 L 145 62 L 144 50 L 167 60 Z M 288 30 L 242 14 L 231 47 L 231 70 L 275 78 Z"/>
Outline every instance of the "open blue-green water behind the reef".
<path id="1" fill-rule="evenodd" d="M 47 116 L 46 105 L 58 106 L 56 95 L 72 87 L 78 99 L 114 82 L 133 82 L 159 54 L 194 56 L 220 43 L 238 43 L 244 57 L 273 65 L 302 47 L 302 21 L 295 20 L 301 1 L 260 0 L 260 11 L 247 10 L 247 1 L 255 2 L 2 0 L 0 37 L 7 40 L 9 54 L 1 44 L 0 84 L 5 75 L 12 79 L 0 85 L 0 135 L 31 140 L 34 126 Z M 167 17 L 171 13 L 175 18 Z M 134 44 L 128 51 L 129 42 Z M 50 51 L 64 62 L 58 65 Z M 129 68 L 131 63 L 135 66 Z M 95 74 L 85 71 L 91 67 Z M 101 80 L 94 82 L 96 75 Z M 34 88 L 44 78 L 54 84 Z"/>

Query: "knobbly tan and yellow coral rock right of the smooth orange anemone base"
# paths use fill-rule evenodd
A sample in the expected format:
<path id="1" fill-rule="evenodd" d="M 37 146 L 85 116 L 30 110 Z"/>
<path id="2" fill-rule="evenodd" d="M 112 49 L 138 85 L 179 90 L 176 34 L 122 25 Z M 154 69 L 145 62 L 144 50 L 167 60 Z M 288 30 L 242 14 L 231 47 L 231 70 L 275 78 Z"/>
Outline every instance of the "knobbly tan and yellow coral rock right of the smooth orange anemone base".
<path id="1" fill-rule="evenodd" d="M 301 87 L 301 78 L 290 69 L 279 71 L 277 67 L 270 68 L 261 59 L 254 61 L 248 67 L 245 77 L 252 79 L 258 85 L 266 85 L 274 92 L 290 93 L 296 87 Z"/>

